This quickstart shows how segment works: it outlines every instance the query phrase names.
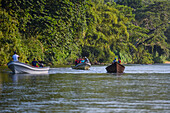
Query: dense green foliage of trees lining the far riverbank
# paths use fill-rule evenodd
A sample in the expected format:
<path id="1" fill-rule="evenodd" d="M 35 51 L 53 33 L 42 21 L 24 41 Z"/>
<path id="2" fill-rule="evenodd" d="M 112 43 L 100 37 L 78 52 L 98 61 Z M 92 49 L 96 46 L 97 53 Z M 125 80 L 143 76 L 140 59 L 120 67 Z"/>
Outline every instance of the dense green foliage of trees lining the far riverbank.
<path id="1" fill-rule="evenodd" d="M 170 3 L 127 3 L 131 5 L 113 0 L 0 0 L 0 64 L 12 60 L 14 51 L 21 62 L 37 58 L 48 65 L 70 64 L 80 56 L 91 62 L 168 59 Z"/>

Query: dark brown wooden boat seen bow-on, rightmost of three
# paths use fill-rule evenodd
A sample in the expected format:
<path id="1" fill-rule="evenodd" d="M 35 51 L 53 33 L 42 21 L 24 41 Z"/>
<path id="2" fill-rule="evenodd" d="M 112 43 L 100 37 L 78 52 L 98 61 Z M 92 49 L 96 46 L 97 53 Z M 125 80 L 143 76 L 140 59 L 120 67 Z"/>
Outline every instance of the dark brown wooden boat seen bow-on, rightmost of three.
<path id="1" fill-rule="evenodd" d="M 123 73 L 124 69 L 125 69 L 125 66 L 117 62 L 106 67 L 106 70 L 108 73 Z"/>

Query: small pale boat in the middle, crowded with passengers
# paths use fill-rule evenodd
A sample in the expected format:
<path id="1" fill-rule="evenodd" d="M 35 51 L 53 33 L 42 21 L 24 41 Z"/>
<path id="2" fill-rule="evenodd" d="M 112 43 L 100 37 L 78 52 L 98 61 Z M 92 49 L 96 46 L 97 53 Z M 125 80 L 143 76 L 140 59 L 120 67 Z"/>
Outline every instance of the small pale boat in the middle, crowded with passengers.
<path id="1" fill-rule="evenodd" d="M 90 63 L 79 63 L 76 66 L 71 66 L 72 69 L 81 69 L 81 70 L 89 70 L 91 67 Z"/>

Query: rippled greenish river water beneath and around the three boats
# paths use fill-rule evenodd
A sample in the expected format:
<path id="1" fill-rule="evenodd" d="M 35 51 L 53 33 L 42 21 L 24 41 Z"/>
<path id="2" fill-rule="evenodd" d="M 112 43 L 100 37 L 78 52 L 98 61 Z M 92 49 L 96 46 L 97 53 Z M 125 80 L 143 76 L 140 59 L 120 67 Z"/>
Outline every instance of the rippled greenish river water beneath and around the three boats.
<path id="1" fill-rule="evenodd" d="M 44 75 L 0 68 L 0 112 L 170 113 L 170 64 L 125 67 L 123 74 L 92 66 Z"/>

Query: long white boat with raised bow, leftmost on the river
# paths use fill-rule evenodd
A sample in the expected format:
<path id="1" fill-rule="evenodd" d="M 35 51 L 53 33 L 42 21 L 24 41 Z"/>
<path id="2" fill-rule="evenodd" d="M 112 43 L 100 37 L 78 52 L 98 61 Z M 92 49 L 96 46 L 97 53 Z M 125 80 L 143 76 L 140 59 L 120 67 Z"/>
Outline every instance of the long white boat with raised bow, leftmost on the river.
<path id="1" fill-rule="evenodd" d="M 50 69 L 50 67 L 33 67 L 18 61 L 11 61 L 7 65 L 13 73 L 47 74 Z"/>

